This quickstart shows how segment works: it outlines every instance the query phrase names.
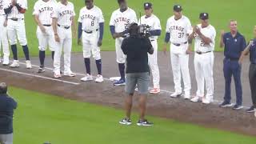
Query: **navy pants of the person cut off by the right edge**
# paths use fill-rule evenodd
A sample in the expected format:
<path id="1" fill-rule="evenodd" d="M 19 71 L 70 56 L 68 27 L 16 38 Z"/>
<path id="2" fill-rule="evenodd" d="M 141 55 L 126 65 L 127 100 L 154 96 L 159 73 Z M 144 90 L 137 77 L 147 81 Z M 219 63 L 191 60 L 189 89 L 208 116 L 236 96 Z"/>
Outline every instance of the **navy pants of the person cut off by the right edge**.
<path id="1" fill-rule="evenodd" d="M 250 92 L 254 108 L 256 109 L 256 64 L 250 64 L 249 70 Z"/>

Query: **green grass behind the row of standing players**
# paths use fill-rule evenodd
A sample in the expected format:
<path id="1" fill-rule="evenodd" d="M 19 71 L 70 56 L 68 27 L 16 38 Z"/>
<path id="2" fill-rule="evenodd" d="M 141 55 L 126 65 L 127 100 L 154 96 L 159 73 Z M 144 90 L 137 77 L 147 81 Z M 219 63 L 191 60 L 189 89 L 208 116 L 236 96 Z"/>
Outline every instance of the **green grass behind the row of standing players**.
<path id="1" fill-rule="evenodd" d="M 32 17 L 32 11 L 34 2 L 36 0 L 28 0 L 29 10 L 26 11 L 26 34 L 28 37 L 28 42 L 30 46 L 30 52 L 32 55 L 38 55 L 38 40 L 36 38 L 36 25 L 34 23 L 34 19 Z M 84 6 L 84 0 L 70 0 L 70 2 L 74 2 L 75 10 L 78 19 L 79 10 Z M 146 2 L 146 0 L 130 0 L 128 4 L 130 8 L 134 9 L 137 12 L 139 17 L 139 12 L 141 11 L 143 14 L 143 6 L 142 4 Z M 198 14 L 200 12 L 208 12 L 210 13 L 210 22 L 213 26 L 215 26 L 218 37 L 216 38 L 216 50 L 221 50 L 218 48 L 219 42 L 219 34 L 220 30 L 228 30 L 227 25 L 230 19 L 238 20 L 239 30 L 246 36 L 246 39 L 249 40 L 252 38 L 252 29 L 253 26 L 256 25 L 254 20 L 254 0 L 149 0 L 154 4 L 154 13 L 160 18 L 162 23 L 162 36 L 159 38 L 159 50 L 162 50 L 162 44 L 164 39 L 164 33 L 166 30 L 166 21 L 173 14 L 173 6 L 175 3 L 179 3 L 183 6 L 184 14 L 190 18 L 190 21 L 193 25 L 198 24 Z M 96 6 L 102 9 L 104 17 L 106 19 L 105 23 L 105 35 L 103 39 L 102 50 L 114 50 L 114 40 L 110 36 L 109 30 L 109 22 L 110 16 L 112 12 L 118 9 L 117 0 L 94 0 Z M 76 44 L 77 39 L 74 38 L 73 51 L 79 52 L 82 50 L 81 46 Z M 19 55 L 22 50 L 19 50 Z"/>

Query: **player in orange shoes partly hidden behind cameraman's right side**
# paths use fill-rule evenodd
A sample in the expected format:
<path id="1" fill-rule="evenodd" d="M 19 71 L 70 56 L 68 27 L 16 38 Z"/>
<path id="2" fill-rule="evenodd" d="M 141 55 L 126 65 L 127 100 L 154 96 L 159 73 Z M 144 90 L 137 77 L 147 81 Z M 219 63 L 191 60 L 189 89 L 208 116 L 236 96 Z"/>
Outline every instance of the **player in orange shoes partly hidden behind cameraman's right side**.
<path id="1" fill-rule="evenodd" d="M 150 41 L 151 45 L 154 47 L 154 54 L 148 54 L 150 69 L 153 75 L 153 85 L 154 89 L 150 90 L 151 94 L 160 93 L 160 76 L 158 69 L 158 36 L 161 35 L 161 25 L 160 20 L 157 16 L 153 14 L 152 3 L 144 3 L 145 14 L 142 18 L 139 19 L 139 24 L 145 24 L 150 26 Z"/>

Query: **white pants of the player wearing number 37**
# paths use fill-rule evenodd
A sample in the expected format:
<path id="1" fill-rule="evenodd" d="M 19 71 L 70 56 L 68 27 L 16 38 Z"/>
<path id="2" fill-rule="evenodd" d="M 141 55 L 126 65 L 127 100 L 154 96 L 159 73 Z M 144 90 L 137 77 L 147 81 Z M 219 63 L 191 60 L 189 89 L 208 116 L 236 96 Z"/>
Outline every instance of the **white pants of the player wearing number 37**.
<path id="1" fill-rule="evenodd" d="M 171 44 L 170 61 L 174 75 L 174 89 L 175 92 L 182 93 L 182 79 L 184 83 L 185 95 L 190 95 L 191 82 L 189 70 L 189 54 L 186 54 L 188 48 L 187 44 L 175 46 Z"/>

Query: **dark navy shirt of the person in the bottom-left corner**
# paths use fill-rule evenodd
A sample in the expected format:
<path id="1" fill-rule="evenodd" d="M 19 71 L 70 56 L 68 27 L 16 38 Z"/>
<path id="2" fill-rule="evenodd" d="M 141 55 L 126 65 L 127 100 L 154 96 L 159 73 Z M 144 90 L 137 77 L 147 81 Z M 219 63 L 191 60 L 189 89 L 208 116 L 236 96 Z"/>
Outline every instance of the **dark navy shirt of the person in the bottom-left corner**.
<path id="1" fill-rule="evenodd" d="M 17 102 L 7 94 L 0 95 L 0 134 L 13 133 L 13 115 Z"/>

